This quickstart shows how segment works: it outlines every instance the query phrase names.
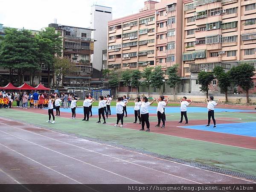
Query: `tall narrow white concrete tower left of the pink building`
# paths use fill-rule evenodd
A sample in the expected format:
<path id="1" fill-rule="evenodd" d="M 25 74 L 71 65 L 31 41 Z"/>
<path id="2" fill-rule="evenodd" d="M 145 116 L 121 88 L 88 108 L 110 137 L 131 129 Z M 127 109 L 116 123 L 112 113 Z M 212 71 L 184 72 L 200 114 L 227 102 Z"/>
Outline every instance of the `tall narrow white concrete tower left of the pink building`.
<path id="1" fill-rule="evenodd" d="M 102 51 L 106 50 L 108 39 L 108 21 L 112 20 L 112 8 L 93 5 L 91 6 L 91 38 L 95 39 L 94 52 L 91 55 L 91 63 L 93 64 L 93 78 L 101 78 L 101 70 L 103 68 Z"/>

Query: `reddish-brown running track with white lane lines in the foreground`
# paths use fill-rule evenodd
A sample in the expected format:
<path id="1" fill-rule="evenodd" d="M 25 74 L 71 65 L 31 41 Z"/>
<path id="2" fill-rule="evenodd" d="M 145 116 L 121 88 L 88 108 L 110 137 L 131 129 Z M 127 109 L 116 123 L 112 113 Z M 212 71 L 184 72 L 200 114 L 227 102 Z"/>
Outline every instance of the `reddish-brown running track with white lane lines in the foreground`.
<path id="1" fill-rule="evenodd" d="M 0 118 L 0 183 L 253 183 Z"/>

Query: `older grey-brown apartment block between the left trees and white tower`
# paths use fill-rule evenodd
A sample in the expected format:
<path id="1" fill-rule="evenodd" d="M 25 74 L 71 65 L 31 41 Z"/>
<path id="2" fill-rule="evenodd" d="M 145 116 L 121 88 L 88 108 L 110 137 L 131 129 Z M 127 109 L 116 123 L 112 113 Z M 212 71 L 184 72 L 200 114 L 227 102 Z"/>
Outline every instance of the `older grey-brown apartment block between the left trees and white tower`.
<path id="1" fill-rule="evenodd" d="M 90 85 L 92 74 L 92 64 L 90 56 L 93 54 L 94 39 L 91 32 L 94 29 L 49 24 L 54 27 L 56 32 L 60 32 L 63 38 L 63 56 L 70 58 L 76 66 L 77 71 L 65 76 L 62 81 L 63 86 L 87 87 Z M 43 79 L 42 79 L 43 80 Z"/>

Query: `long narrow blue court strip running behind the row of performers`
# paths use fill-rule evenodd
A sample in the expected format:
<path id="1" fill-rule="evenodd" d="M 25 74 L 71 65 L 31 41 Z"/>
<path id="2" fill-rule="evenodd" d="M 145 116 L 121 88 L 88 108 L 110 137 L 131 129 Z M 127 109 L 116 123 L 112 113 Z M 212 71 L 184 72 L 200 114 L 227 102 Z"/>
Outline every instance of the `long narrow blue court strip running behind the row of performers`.
<path id="1" fill-rule="evenodd" d="M 84 109 L 82 107 L 76 108 L 76 113 L 84 113 Z M 70 112 L 71 109 L 64 109 L 60 108 L 60 111 L 63 112 Z M 93 107 L 92 108 L 93 114 L 98 114 L 98 108 Z M 187 108 L 188 113 L 207 113 L 207 108 L 201 108 L 201 107 L 188 107 Z M 216 112 L 246 112 L 246 111 L 251 111 L 251 110 L 239 110 L 239 109 L 222 109 L 222 108 L 215 108 L 215 113 Z M 180 113 L 180 107 L 166 107 L 165 108 L 166 113 Z M 127 113 L 128 114 L 134 114 L 134 107 L 127 107 Z M 157 113 L 157 107 L 152 106 L 149 107 L 149 113 Z M 111 106 L 111 114 L 115 115 L 116 114 L 116 107 Z"/>

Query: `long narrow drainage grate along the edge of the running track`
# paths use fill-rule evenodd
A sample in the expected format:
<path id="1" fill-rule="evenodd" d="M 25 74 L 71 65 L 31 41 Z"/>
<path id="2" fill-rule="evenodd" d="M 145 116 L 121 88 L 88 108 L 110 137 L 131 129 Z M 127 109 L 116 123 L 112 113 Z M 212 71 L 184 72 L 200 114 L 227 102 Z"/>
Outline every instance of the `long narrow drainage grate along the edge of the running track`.
<path id="1" fill-rule="evenodd" d="M 6 118 L 6 117 L 4 117 L 4 118 Z M 23 121 L 20 121 L 20 120 L 17 120 L 17 119 L 12 119 L 12 118 L 6 118 L 6 119 L 14 120 L 14 121 L 17 121 L 17 122 L 23 122 Z M 78 134 L 73 134 L 73 133 L 70 133 L 70 132 L 67 132 L 67 131 L 61 131 L 61 130 L 58 130 L 58 129 L 52 129 L 52 128 L 44 127 L 44 126 L 41 126 L 41 125 L 34 125 L 32 123 L 27 123 L 27 124 L 30 124 L 30 125 L 33 125 L 33 126 L 36 126 L 36 127 L 40 127 L 40 128 L 45 128 L 45 129 L 48 129 L 48 130 L 52 130 L 52 131 L 55 131 L 55 132 L 58 132 L 58 133 L 78 137 L 78 138 L 81 138 L 81 139 L 86 139 L 86 140 L 93 141 L 93 142 L 96 142 L 96 143 L 101 143 L 101 144 L 104 144 L 104 145 L 111 145 L 113 147 L 125 149 L 125 150 L 128 150 L 128 151 L 134 151 L 134 152 L 137 152 L 137 153 L 140 153 L 140 154 L 146 154 L 146 155 L 149 155 L 151 157 L 157 157 L 157 158 L 160 158 L 160 159 L 163 159 L 163 160 L 174 161 L 174 162 L 177 162 L 177 163 L 182 163 L 182 164 L 197 167 L 197 168 L 200 168 L 200 169 L 206 169 L 206 170 L 213 171 L 213 172 L 223 173 L 223 174 L 226 174 L 226 175 L 232 175 L 232 176 L 235 176 L 235 177 L 256 181 L 256 176 L 253 176 L 253 175 L 247 175 L 247 174 L 244 174 L 244 173 L 233 172 L 233 171 L 230 171 L 230 170 L 227 170 L 227 169 L 221 169 L 221 168 L 218 168 L 218 167 L 209 166 L 209 165 L 205 165 L 205 164 L 201 164 L 201 163 L 197 163 L 197 162 L 193 162 L 193 161 L 183 160 L 183 159 L 179 159 L 179 158 L 175 158 L 175 157 L 169 157 L 169 156 L 166 156 L 166 155 L 157 154 L 157 153 L 153 153 L 153 152 L 150 152 L 150 151 L 145 151 L 145 150 L 140 149 L 140 148 L 132 148 L 132 147 L 128 147 L 128 146 L 125 146 L 125 145 L 120 145 L 120 144 L 117 144 L 117 143 L 111 143 L 111 142 L 102 141 L 102 140 L 91 138 L 91 137 L 85 137 L 85 136 L 81 136 L 81 135 L 78 135 Z"/>

